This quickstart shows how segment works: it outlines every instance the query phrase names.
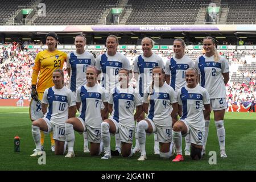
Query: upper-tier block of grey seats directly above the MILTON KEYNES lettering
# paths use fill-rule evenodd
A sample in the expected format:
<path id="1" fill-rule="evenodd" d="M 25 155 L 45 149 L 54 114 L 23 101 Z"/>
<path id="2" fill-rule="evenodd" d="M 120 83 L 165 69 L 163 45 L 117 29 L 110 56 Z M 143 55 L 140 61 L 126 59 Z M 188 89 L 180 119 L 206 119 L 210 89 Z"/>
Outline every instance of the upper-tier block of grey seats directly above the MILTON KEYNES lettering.
<path id="1" fill-rule="evenodd" d="M 167 0 L 129 0 L 127 6 L 133 7 L 126 23 L 179 23 L 194 24 L 202 3 L 211 1 L 167 1 Z"/>

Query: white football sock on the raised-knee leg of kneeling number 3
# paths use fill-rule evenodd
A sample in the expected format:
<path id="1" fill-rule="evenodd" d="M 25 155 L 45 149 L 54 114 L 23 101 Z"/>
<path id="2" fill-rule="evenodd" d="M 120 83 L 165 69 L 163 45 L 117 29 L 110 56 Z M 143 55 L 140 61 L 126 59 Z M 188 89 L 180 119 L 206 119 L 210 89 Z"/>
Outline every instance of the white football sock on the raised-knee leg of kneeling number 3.
<path id="1" fill-rule="evenodd" d="M 102 122 L 101 123 L 101 139 L 104 144 L 104 152 L 111 154 L 110 152 L 110 133 L 109 133 L 109 123 Z"/>

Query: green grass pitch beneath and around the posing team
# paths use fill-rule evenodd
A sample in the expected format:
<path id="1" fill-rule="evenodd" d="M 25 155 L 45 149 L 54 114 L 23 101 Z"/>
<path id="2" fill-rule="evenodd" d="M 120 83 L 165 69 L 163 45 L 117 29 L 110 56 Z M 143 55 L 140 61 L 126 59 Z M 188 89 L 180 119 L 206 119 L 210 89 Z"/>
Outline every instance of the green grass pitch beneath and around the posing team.
<path id="1" fill-rule="evenodd" d="M 211 118 L 213 115 L 211 115 Z M 217 164 L 210 165 L 209 155 L 200 161 L 191 160 L 185 156 L 184 162 L 174 163 L 171 159 L 161 159 L 154 155 L 153 135 L 147 135 L 147 160 L 138 162 L 139 154 L 131 158 L 113 156 L 110 160 L 101 160 L 101 156 L 84 154 L 82 135 L 75 133 L 75 158 L 67 159 L 56 156 L 50 151 L 49 136 L 46 136 L 46 165 L 39 165 L 38 158 L 30 155 L 35 148 L 31 135 L 31 121 L 28 107 L 0 107 L 0 170 L 121 170 L 121 171 L 164 171 L 164 170 L 256 170 L 256 114 L 255 113 L 226 113 L 226 154 L 228 158 L 221 159 L 216 127 L 213 119 L 210 122 L 207 154 L 209 151 L 217 152 Z M 20 152 L 14 152 L 14 137 L 20 137 Z M 134 139 L 135 140 L 135 139 Z M 114 138 L 112 137 L 112 149 Z M 183 139 L 183 149 L 184 149 Z"/>

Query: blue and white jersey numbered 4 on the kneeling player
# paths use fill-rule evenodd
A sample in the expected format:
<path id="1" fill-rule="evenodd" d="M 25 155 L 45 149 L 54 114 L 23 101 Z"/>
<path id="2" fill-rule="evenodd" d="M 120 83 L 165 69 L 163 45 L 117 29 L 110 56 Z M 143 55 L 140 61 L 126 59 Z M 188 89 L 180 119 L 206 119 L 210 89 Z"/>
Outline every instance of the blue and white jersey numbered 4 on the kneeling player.
<path id="1" fill-rule="evenodd" d="M 149 104 L 147 117 L 160 127 L 170 127 L 172 123 L 171 104 L 177 102 L 177 94 L 166 83 L 161 87 L 154 86 L 151 94 L 150 87 L 147 88 L 147 93 L 144 93 L 143 97 L 143 102 Z M 150 100 L 148 100 L 149 94 Z"/>

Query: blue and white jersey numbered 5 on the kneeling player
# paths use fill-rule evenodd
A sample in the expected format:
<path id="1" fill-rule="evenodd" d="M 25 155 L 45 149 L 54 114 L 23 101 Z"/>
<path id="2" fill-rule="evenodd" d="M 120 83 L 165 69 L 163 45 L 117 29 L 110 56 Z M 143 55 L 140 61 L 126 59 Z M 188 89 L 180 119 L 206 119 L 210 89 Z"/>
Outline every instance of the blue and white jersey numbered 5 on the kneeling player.
<path id="1" fill-rule="evenodd" d="M 204 105 L 210 104 L 207 90 L 199 85 L 195 88 L 183 86 L 177 91 L 178 104 L 182 106 L 182 117 L 197 130 L 204 131 Z"/>

